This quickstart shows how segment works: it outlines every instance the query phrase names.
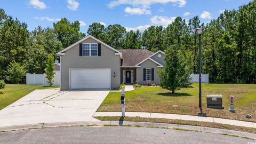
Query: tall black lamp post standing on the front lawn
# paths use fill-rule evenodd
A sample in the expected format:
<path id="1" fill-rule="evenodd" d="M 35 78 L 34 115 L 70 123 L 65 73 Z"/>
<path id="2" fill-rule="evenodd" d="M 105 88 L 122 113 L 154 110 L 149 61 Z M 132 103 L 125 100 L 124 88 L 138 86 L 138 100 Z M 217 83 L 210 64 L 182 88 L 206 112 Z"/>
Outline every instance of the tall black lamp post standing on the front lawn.
<path id="1" fill-rule="evenodd" d="M 202 110 L 202 81 L 201 81 L 201 73 L 202 73 L 202 62 L 201 62 L 201 35 L 203 33 L 204 28 L 197 28 L 197 34 L 199 35 L 199 109 L 200 113 L 198 116 L 206 116 Z"/>

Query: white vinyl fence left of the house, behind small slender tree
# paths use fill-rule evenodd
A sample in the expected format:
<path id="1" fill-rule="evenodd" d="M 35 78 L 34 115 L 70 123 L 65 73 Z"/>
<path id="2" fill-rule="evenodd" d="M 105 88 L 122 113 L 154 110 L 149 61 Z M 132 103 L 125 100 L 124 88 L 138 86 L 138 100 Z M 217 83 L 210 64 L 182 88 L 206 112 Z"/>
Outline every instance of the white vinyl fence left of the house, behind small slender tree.
<path id="1" fill-rule="evenodd" d="M 53 83 L 53 86 L 60 86 L 60 71 L 55 71 Z M 26 74 L 26 84 L 49 86 L 45 74 Z"/>

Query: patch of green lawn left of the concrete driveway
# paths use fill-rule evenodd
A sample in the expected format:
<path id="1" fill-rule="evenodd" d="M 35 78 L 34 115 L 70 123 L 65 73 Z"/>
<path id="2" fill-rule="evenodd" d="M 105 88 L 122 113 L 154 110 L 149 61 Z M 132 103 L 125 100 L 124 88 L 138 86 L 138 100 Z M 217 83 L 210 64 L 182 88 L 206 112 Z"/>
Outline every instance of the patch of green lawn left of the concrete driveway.
<path id="1" fill-rule="evenodd" d="M 0 90 L 0 110 L 34 90 L 52 89 L 56 87 L 59 86 L 44 87 L 43 85 L 6 84 L 5 88 Z"/>

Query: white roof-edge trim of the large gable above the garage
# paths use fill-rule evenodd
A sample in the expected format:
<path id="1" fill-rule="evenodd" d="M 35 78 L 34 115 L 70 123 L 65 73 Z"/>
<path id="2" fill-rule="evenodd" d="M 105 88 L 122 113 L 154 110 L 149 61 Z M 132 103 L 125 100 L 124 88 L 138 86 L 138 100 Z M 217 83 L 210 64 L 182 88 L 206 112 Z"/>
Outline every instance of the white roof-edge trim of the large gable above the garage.
<path id="1" fill-rule="evenodd" d="M 122 59 L 122 53 L 121 53 L 121 52 L 117 51 L 117 50 L 114 49 L 113 47 L 109 46 L 109 45 L 106 44 L 106 43 L 103 43 L 102 41 L 100 41 L 99 39 L 97 39 L 97 38 L 95 38 L 95 37 L 93 37 L 93 36 L 91 36 L 91 35 L 86 36 L 85 38 L 81 39 L 80 41 L 78 41 L 78 42 L 76 42 L 76 43 L 74 43 L 74 44 L 72 44 L 72 45 L 66 47 L 66 49 L 63 49 L 62 51 L 58 52 L 57 55 L 65 55 L 65 52 L 66 52 L 66 51 L 68 51 L 69 49 L 72 49 L 74 46 L 76 46 L 76 45 L 79 44 L 79 43 L 82 43 L 83 41 L 85 41 L 85 40 L 88 39 L 88 38 L 92 38 L 92 39 L 94 39 L 95 41 L 97 41 L 97 42 L 99 42 L 99 43 L 101 43 L 101 44 L 107 46 L 109 49 L 115 51 L 115 54 L 116 54 L 116 55 L 120 55 L 120 58 Z"/>

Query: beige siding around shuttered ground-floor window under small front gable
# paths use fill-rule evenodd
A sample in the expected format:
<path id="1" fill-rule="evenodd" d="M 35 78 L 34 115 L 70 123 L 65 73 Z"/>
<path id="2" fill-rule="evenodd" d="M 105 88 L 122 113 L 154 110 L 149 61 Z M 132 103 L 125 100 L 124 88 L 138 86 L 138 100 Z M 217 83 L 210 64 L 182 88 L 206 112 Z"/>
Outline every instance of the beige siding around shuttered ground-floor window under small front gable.
<path id="1" fill-rule="evenodd" d="M 158 75 L 157 75 L 157 65 L 155 62 L 151 60 L 146 60 L 141 63 L 140 67 L 137 68 L 136 70 L 136 75 L 137 75 L 137 83 L 146 85 L 147 81 L 143 81 L 143 68 L 154 68 L 154 81 L 150 81 L 151 83 L 158 84 Z"/>

